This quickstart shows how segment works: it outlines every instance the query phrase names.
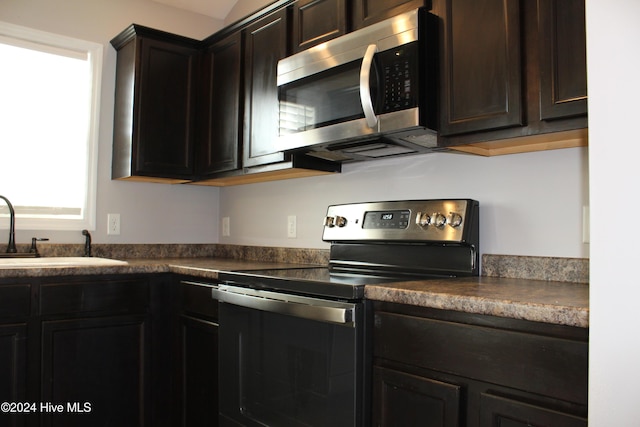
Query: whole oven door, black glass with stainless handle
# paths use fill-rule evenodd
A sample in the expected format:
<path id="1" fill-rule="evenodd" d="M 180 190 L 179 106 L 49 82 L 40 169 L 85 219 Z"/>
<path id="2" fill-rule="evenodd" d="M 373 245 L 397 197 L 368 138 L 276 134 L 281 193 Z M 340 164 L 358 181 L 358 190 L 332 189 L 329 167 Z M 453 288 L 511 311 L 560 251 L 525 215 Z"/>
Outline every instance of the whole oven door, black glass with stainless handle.
<path id="1" fill-rule="evenodd" d="M 364 303 L 221 285 L 220 423 L 364 426 Z"/>

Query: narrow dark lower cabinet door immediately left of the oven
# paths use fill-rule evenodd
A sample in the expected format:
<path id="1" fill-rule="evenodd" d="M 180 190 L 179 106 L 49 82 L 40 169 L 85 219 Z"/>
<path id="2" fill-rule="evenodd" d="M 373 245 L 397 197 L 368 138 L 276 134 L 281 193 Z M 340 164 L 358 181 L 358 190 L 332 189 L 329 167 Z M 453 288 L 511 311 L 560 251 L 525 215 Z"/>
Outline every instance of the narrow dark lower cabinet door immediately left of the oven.
<path id="1" fill-rule="evenodd" d="M 182 423 L 218 425 L 218 324 L 182 316 Z"/>

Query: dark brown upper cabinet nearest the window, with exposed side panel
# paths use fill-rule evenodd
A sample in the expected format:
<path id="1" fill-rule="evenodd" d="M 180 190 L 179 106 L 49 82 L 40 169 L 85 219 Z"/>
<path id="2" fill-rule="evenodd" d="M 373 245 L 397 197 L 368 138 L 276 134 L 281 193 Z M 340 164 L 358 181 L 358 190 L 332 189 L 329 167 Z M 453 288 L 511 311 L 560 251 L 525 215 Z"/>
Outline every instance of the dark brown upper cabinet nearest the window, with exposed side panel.
<path id="1" fill-rule="evenodd" d="M 134 24 L 111 44 L 117 50 L 112 178 L 190 181 L 198 41 Z"/>

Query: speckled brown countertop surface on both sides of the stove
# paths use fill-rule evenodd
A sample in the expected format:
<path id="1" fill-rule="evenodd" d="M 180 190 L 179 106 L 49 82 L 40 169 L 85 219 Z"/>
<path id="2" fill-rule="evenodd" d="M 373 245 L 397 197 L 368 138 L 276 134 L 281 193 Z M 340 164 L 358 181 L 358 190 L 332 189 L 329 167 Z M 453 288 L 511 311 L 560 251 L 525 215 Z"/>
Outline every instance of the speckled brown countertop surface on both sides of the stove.
<path id="1" fill-rule="evenodd" d="M 0 268 L 0 279 L 95 274 L 176 273 L 216 279 L 219 271 L 291 268 L 311 264 L 229 258 L 131 259 L 116 266 L 55 266 L 47 268 Z M 318 264 L 314 264 L 318 265 Z M 5 280 L 6 282 L 6 280 Z M 396 302 L 446 310 L 525 319 L 536 322 L 589 326 L 589 287 L 571 283 L 527 278 L 472 277 L 429 279 L 367 285 L 371 300 Z"/>

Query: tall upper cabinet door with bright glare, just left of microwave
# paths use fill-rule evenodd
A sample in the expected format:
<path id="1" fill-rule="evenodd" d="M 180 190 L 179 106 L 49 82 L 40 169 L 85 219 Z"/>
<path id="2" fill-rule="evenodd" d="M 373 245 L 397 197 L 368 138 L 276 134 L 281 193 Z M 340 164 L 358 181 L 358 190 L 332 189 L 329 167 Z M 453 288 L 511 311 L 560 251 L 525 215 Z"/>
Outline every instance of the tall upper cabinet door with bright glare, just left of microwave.
<path id="1" fill-rule="evenodd" d="M 245 30 L 243 165 L 284 160 L 278 136 L 278 61 L 287 55 L 287 11 L 282 9 Z"/>

